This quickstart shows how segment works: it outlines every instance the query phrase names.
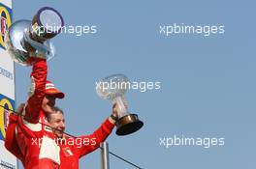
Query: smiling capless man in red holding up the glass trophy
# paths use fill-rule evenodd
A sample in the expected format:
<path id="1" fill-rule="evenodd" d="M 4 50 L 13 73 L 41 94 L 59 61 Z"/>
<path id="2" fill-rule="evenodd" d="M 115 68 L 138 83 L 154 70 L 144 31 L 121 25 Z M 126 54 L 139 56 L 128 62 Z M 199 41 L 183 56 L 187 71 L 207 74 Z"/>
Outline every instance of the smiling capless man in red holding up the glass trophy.
<path id="1" fill-rule="evenodd" d="M 73 137 L 66 135 L 65 118 L 63 111 L 54 107 L 54 113 L 48 116 L 48 123 L 53 129 L 53 133 L 57 137 L 57 144 L 60 147 L 60 168 L 61 169 L 79 169 L 79 159 L 83 155 L 87 155 L 100 147 L 100 143 L 104 142 L 111 134 L 112 128 L 117 117 L 115 105 L 112 108 L 112 116 L 107 118 L 105 122 L 96 129 L 92 134 Z"/>

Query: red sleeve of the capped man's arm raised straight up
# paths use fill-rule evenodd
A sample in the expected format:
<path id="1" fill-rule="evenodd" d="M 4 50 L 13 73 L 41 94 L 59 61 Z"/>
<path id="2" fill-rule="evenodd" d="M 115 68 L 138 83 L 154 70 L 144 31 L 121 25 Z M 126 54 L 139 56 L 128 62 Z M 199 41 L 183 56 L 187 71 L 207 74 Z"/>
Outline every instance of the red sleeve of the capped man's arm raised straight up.
<path id="1" fill-rule="evenodd" d="M 45 59 L 39 59 L 33 65 L 31 72 L 31 96 L 27 100 L 24 119 L 29 123 L 36 124 L 39 121 L 39 114 L 42 101 L 45 98 L 48 66 Z"/>

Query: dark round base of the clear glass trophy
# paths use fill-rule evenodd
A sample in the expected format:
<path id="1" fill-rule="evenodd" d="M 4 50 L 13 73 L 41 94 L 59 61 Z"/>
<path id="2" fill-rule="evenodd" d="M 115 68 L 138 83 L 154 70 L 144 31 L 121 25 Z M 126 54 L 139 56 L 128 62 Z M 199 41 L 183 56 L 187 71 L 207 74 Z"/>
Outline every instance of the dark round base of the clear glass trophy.
<path id="1" fill-rule="evenodd" d="M 139 120 L 137 114 L 129 114 L 117 120 L 115 126 L 117 135 L 128 135 L 139 130 L 144 123 Z"/>

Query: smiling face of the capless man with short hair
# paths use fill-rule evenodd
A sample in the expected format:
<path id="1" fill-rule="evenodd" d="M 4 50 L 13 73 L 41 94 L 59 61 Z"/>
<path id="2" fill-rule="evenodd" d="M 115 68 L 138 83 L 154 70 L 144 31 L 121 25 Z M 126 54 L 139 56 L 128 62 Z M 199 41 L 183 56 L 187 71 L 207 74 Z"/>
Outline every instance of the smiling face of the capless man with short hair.
<path id="1" fill-rule="evenodd" d="M 61 112 L 54 112 L 49 115 L 49 125 L 53 127 L 53 133 L 58 137 L 63 137 L 65 131 L 65 118 Z"/>

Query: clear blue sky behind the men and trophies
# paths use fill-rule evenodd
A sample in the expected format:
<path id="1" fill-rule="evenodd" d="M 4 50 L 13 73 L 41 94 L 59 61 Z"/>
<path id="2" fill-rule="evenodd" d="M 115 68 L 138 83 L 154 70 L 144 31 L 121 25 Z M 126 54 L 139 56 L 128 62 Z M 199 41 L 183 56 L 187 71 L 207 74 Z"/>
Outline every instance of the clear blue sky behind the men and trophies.
<path id="1" fill-rule="evenodd" d="M 110 150 L 144 169 L 255 168 L 255 3 L 224 1 L 14 1 L 14 20 L 37 10 L 58 10 L 65 25 L 96 26 L 95 34 L 60 34 L 48 79 L 66 98 L 58 100 L 66 131 L 92 132 L 112 111 L 95 82 L 113 73 L 132 81 L 160 81 L 160 90 L 125 95 L 144 127 L 128 136 L 113 132 Z M 160 25 L 224 25 L 224 34 L 160 34 Z M 16 102 L 26 100 L 30 68 L 16 66 Z M 225 138 L 224 146 L 173 146 L 160 138 Z M 112 155 L 111 168 L 133 168 Z M 100 152 L 80 168 L 100 167 Z"/>

